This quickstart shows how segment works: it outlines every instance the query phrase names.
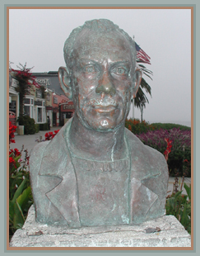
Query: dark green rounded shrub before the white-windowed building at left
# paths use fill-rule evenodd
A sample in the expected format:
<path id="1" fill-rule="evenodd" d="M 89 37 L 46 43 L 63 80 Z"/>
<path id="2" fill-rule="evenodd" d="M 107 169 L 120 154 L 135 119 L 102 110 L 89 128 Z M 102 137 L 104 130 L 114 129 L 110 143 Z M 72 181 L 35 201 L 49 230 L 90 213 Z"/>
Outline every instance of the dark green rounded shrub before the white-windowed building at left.
<path id="1" fill-rule="evenodd" d="M 25 135 L 34 135 L 36 132 L 35 120 L 30 116 L 19 116 L 17 118 L 19 126 L 24 126 Z"/>

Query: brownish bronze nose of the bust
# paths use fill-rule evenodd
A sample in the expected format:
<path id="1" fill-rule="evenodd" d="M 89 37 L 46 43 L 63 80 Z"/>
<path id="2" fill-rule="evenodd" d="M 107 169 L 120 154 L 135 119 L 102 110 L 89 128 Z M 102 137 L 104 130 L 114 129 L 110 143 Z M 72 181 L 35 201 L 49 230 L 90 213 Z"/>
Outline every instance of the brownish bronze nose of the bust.
<path id="1" fill-rule="evenodd" d="M 95 89 L 95 92 L 98 94 L 104 92 L 105 94 L 114 96 L 116 90 L 114 88 L 114 84 L 110 81 L 108 73 L 104 73 L 103 78 L 99 81 L 98 87 Z"/>

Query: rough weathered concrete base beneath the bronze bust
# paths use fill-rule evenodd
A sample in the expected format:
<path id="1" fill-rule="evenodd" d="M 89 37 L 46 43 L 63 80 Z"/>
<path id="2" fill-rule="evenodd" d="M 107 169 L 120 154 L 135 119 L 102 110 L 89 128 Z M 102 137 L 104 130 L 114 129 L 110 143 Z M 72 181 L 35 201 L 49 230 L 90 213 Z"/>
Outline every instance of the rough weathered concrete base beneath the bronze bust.
<path id="1" fill-rule="evenodd" d="M 191 237 L 174 216 L 163 216 L 141 225 L 69 229 L 64 226 L 41 225 L 35 222 L 35 209 L 31 206 L 25 225 L 22 230 L 16 230 L 10 246 L 191 247 Z"/>

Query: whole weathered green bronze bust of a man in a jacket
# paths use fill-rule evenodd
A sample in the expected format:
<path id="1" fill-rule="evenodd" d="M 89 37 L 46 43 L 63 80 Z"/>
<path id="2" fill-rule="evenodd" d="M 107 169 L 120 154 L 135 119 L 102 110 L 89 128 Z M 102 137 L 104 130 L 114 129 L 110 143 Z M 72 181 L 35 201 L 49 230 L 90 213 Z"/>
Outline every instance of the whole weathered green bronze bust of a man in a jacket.
<path id="1" fill-rule="evenodd" d="M 75 114 L 30 154 L 36 220 L 132 225 L 165 214 L 165 158 L 124 127 L 142 73 L 134 41 L 109 20 L 86 21 L 64 45 L 61 88 Z"/>

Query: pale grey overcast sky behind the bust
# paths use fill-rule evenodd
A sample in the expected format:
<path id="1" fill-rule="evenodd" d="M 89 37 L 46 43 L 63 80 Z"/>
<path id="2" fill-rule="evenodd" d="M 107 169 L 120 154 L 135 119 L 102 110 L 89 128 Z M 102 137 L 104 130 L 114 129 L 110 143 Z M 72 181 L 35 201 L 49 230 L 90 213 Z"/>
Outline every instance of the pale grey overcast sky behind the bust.
<path id="1" fill-rule="evenodd" d="M 149 104 L 143 120 L 189 124 L 191 121 L 190 9 L 10 9 L 9 60 L 34 67 L 32 72 L 58 71 L 65 66 L 63 45 L 85 21 L 106 18 L 134 36 L 151 57 Z M 133 107 L 128 117 L 133 117 Z M 141 111 L 134 108 L 134 117 Z"/>

